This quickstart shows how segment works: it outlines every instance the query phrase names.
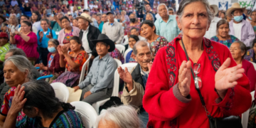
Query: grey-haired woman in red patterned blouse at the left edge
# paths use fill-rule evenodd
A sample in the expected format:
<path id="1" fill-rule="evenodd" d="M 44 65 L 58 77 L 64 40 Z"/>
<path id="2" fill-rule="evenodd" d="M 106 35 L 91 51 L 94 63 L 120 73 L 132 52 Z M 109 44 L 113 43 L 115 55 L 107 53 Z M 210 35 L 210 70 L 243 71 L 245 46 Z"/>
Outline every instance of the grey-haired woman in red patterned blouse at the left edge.
<path id="1" fill-rule="evenodd" d="M 12 103 L 12 97 L 14 97 L 14 89 L 18 85 L 23 84 L 31 80 L 31 63 L 30 61 L 21 55 L 14 55 L 9 57 L 4 62 L 4 78 L 5 82 L 11 87 L 4 95 L 4 101 L 1 106 L 0 112 L 0 126 L 2 127 L 6 116 L 9 112 Z M 15 117 L 17 121 L 25 116 L 23 112 L 19 111 Z M 15 124 L 15 123 L 14 123 Z"/>

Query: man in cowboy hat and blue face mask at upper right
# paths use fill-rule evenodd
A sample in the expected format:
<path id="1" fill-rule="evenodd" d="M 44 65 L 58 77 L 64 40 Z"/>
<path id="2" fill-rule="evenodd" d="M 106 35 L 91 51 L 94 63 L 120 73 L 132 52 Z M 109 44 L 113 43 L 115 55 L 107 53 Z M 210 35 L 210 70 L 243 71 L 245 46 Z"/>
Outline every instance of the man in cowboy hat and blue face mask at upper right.
<path id="1" fill-rule="evenodd" d="M 242 16 L 242 12 L 245 8 L 241 8 L 240 4 L 234 3 L 230 9 L 227 10 L 226 14 L 230 18 L 233 18 L 229 22 L 230 35 L 235 36 L 240 41 L 245 43 L 245 46 L 251 46 L 251 41 L 255 38 L 255 32 L 251 24 L 245 21 Z"/>

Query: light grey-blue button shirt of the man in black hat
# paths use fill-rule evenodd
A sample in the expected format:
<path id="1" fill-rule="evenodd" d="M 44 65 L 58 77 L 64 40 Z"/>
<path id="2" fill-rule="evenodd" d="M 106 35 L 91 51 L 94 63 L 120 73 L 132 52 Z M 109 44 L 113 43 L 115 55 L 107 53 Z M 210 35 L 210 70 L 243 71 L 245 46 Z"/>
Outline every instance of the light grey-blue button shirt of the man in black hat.
<path id="1" fill-rule="evenodd" d="M 117 62 L 110 56 L 110 54 L 107 53 L 101 59 L 100 55 L 98 55 L 92 61 L 92 67 L 85 80 L 78 86 L 82 89 L 87 85 L 92 85 L 93 87 L 90 90 L 92 93 L 98 92 L 106 87 L 112 88 L 114 84 L 115 70 L 117 70 Z"/>

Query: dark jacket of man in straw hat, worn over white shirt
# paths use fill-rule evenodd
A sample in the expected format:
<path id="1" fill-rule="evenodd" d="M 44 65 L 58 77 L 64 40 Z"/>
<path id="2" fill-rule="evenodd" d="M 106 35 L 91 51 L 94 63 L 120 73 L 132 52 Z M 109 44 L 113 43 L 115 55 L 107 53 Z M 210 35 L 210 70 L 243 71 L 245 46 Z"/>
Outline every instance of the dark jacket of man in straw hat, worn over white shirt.
<path id="1" fill-rule="evenodd" d="M 81 30 L 80 33 L 79 33 L 80 40 L 82 40 L 82 35 L 83 35 L 83 32 Z M 92 55 L 94 55 L 95 57 L 97 57 L 96 46 L 95 46 L 95 44 L 92 43 L 91 40 L 97 39 L 97 37 L 99 35 L 100 35 L 100 30 L 98 28 L 96 28 L 95 26 L 90 25 L 90 23 L 89 23 L 89 30 L 88 30 L 88 33 L 87 33 L 87 40 L 88 40 L 88 43 L 89 43 L 89 47 L 92 50 Z"/>

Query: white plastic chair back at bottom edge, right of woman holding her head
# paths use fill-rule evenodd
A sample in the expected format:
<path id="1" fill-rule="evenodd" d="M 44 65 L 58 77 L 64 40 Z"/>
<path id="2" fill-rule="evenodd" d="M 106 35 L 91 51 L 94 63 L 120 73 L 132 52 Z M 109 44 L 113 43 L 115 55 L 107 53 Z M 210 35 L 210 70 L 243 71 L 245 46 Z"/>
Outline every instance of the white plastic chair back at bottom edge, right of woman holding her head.
<path id="1" fill-rule="evenodd" d="M 75 112 L 80 113 L 85 127 L 95 128 L 97 113 L 92 105 L 82 101 L 70 102 L 70 104 L 75 106 Z"/>

